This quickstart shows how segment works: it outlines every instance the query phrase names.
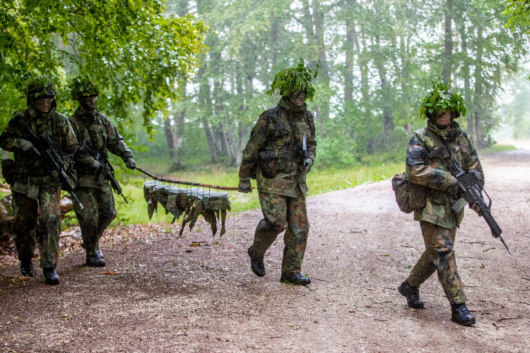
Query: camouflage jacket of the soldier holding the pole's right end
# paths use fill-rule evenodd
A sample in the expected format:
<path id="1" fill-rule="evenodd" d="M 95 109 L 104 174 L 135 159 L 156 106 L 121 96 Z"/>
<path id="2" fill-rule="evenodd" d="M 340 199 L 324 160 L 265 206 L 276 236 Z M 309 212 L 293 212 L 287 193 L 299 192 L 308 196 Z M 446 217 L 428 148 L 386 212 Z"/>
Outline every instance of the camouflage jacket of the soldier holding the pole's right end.
<path id="1" fill-rule="evenodd" d="M 251 139 L 243 150 L 239 178 L 257 179 L 257 190 L 269 194 L 299 197 L 308 190 L 302 164 L 302 135 L 306 134 L 307 157 L 315 160 L 317 141 L 313 114 L 304 108 L 295 111 L 282 98 L 274 108 L 263 112 L 252 129 Z M 277 174 L 263 176 L 258 154 L 273 151 Z"/>

